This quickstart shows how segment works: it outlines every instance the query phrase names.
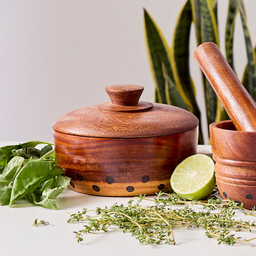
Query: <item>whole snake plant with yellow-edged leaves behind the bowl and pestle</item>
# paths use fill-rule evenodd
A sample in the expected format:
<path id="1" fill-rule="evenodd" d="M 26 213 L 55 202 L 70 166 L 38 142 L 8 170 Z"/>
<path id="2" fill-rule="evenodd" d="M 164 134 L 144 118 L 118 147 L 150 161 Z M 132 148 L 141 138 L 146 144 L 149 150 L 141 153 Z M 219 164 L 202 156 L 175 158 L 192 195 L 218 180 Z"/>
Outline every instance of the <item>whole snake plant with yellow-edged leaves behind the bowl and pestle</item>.
<path id="1" fill-rule="evenodd" d="M 199 119 L 198 143 L 204 144 L 201 127 L 201 111 L 196 101 L 196 90 L 189 71 L 189 37 L 194 24 L 197 45 L 214 42 L 219 46 L 217 0 L 188 0 L 178 16 L 172 45 L 169 46 L 157 23 L 144 9 L 144 31 L 146 48 L 152 76 L 156 85 L 155 100 L 184 108 Z M 242 84 L 252 98 L 256 99 L 256 55 L 252 46 L 243 0 L 229 0 L 226 23 L 226 59 L 235 71 L 233 63 L 233 35 L 235 20 L 240 13 L 248 64 L 245 67 Z M 229 119 L 212 86 L 202 73 L 207 124 Z M 208 131 L 209 132 L 209 131 Z"/>

